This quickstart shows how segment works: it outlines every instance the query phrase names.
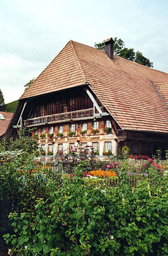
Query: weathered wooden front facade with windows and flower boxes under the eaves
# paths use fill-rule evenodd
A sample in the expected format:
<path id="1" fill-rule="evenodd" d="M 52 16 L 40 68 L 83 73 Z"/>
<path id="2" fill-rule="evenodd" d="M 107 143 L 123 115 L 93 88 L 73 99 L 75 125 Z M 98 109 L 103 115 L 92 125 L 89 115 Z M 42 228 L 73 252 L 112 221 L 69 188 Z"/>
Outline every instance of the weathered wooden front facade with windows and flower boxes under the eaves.
<path id="1" fill-rule="evenodd" d="M 74 89 L 31 99 L 22 113 L 23 127 L 34 128 L 32 136 L 48 152 L 68 153 L 72 146 L 90 146 L 99 155 L 117 155 L 118 125 L 100 101 L 93 96 L 102 113 L 94 109 L 86 89 Z M 111 129 L 110 133 L 104 131 Z M 96 134 L 93 129 L 97 129 Z M 70 132 L 74 134 L 70 136 Z"/>

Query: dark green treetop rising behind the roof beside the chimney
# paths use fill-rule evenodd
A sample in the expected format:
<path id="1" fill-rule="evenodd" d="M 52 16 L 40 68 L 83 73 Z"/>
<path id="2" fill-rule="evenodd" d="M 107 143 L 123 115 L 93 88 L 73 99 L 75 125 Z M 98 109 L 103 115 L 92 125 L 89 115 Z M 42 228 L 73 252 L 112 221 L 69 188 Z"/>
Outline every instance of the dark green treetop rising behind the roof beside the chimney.
<path id="1" fill-rule="evenodd" d="M 105 50 L 105 41 L 101 43 L 94 43 L 94 47 L 100 50 Z M 143 56 L 139 51 L 134 52 L 134 48 L 126 48 L 122 39 L 113 38 L 113 52 L 124 59 L 128 59 L 139 63 L 143 66 L 153 68 L 153 62 Z"/>

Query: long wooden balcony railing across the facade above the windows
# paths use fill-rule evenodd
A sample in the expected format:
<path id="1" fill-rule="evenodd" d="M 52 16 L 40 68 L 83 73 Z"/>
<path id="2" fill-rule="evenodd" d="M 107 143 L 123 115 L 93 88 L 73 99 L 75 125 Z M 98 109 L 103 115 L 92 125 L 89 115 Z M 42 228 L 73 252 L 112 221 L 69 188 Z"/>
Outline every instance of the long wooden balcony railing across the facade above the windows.
<path id="1" fill-rule="evenodd" d="M 70 120 L 85 120 L 94 118 L 93 108 L 87 108 L 86 110 L 77 110 L 66 113 L 59 113 L 55 115 L 47 115 L 45 117 L 35 117 L 23 120 L 25 127 L 56 124 L 61 122 L 70 122 Z"/>

